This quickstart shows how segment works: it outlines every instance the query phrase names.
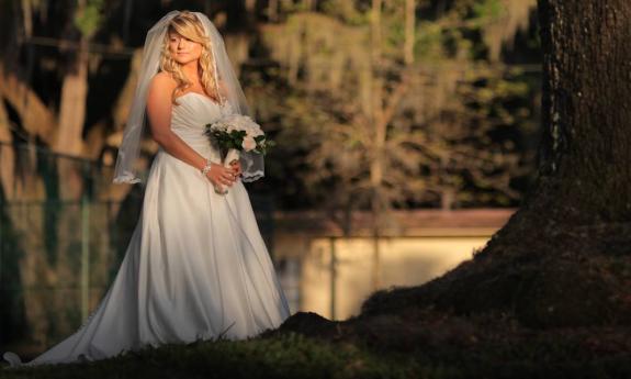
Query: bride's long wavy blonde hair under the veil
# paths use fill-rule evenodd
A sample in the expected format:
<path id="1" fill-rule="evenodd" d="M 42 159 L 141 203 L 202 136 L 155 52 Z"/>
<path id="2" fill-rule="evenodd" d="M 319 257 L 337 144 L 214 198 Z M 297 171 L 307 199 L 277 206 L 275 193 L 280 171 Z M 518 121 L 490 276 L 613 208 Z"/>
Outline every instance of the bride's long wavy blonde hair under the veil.
<path id="1" fill-rule="evenodd" d="M 182 71 L 181 65 L 176 59 L 173 59 L 171 52 L 169 51 L 169 36 L 176 33 L 202 45 L 202 54 L 200 55 L 199 60 L 201 82 L 211 99 L 216 102 L 221 102 L 219 94 L 216 90 L 216 78 L 213 74 L 214 71 L 212 63 L 214 57 L 211 46 L 211 38 L 205 35 L 204 26 L 198 20 L 195 14 L 189 11 L 182 11 L 171 20 L 167 29 L 167 33 L 165 34 L 165 41 L 162 43 L 160 70 L 169 73 L 177 82 L 177 87 L 171 93 L 171 102 L 173 104 L 178 104 L 176 98 L 182 94 L 187 88 L 192 86 L 192 82 L 187 79 L 184 73 Z"/>

